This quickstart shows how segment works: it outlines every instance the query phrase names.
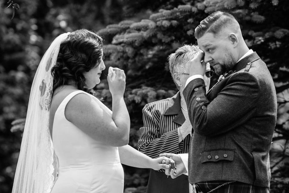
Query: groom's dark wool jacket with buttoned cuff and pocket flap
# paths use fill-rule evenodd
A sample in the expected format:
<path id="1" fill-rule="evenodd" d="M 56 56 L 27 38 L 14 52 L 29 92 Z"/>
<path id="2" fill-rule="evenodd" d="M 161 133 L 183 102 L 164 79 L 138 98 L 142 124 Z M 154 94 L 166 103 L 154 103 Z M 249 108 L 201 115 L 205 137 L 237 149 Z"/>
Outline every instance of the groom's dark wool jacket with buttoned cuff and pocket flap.
<path id="1" fill-rule="evenodd" d="M 277 115 L 274 83 L 256 52 L 233 71 L 207 95 L 200 78 L 183 92 L 194 128 L 189 182 L 225 180 L 269 187 L 269 149 Z"/>

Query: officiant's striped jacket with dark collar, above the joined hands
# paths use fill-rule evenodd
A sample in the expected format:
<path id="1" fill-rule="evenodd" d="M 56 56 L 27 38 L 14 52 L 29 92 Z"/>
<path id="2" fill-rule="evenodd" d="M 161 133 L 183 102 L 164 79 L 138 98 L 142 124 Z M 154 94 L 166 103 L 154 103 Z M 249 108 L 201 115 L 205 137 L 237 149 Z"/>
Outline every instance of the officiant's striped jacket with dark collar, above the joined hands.
<path id="1" fill-rule="evenodd" d="M 185 122 L 180 92 L 175 96 L 149 103 L 142 109 L 144 126 L 139 130 L 138 150 L 149 157 L 160 153 L 188 153 L 191 136 L 179 143 L 178 128 Z"/>

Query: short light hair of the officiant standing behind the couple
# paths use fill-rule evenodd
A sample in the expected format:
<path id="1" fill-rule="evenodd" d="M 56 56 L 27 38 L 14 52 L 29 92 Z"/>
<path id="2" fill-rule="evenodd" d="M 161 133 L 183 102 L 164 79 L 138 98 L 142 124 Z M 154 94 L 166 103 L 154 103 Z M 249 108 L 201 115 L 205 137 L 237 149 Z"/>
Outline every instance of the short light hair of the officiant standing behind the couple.
<path id="1" fill-rule="evenodd" d="M 199 46 L 185 44 L 184 46 L 179 47 L 175 53 L 170 54 L 168 60 L 169 60 L 169 70 L 171 72 L 172 77 L 174 73 L 177 74 L 189 73 L 188 65 L 190 60 L 193 59 L 200 52 L 202 51 L 199 49 Z M 179 88 L 178 85 L 177 87 Z"/>

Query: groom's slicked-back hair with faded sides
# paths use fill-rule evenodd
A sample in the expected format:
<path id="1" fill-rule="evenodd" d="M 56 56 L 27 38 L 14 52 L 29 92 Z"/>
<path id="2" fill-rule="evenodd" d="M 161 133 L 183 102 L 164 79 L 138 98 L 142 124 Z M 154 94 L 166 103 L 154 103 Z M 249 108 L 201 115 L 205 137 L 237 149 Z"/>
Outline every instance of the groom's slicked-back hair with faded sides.
<path id="1" fill-rule="evenodd" d="M 195 29 L 194 35 L 196 39 L 199 39 L 205 33 L 218 35 L 225 27 L 233 31 L 240 29 L 240 25 L 233 15 L 227 12 L 216 11 L 200 22 Z"/>

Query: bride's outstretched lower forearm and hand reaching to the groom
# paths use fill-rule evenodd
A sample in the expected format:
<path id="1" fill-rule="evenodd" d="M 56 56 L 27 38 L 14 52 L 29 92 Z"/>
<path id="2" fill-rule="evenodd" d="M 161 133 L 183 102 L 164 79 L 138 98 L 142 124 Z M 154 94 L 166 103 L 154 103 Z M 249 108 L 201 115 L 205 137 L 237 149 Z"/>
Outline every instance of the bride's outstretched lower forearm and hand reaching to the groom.
<path id="1" fill-rule="evenodd" d="M 174 167 L 173 160 L 167 157 L 152 159 L 129 145 L 119 147 L 118 150 L 120 153 L 120 162 L 128 166 L 152 168 L 154 170 L 167 169 L 170 166 Z"/>

